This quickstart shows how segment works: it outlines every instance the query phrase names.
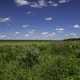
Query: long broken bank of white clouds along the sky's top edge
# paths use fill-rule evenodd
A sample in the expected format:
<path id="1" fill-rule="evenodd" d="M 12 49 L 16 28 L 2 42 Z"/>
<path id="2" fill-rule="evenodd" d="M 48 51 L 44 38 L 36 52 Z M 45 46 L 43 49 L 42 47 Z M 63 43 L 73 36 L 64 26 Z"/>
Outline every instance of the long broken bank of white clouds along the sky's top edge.
<path id="1" fill-rule="evenodd" d="M 59 4 L 62 3 L 68 3 L 71 0 L 59 0 L 57 2 L 53 1 L 53 0 L 33 0 L 33 1 L 29 1 L 29 0 L 15 0 L 15 2 L 19 5 L 19 6 L 30 6 L 33 8 L 43 8 L 43 7 L 49 7 L 49 6 L 54 6 L 57 7 Z"/>

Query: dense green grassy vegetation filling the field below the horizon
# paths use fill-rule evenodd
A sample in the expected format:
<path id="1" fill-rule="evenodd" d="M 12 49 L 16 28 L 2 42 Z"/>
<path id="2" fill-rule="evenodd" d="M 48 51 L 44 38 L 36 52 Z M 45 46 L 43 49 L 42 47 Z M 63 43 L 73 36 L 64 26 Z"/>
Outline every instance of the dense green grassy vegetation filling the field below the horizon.
<path id="1" fill-rule="evenodd" d="M 80 80 L 80 41 L 0 41 L 0 80 Z"/>

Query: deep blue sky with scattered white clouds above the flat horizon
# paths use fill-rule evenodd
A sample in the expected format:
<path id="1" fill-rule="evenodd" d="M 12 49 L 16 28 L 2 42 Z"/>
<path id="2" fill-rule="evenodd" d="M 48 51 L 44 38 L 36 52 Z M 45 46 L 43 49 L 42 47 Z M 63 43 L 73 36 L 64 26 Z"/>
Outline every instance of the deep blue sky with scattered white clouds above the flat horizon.
<path id="1" fill-rule="evenodd" d="M 80 37 L 80 0 L 0 0 L 0 39 Z"/>

